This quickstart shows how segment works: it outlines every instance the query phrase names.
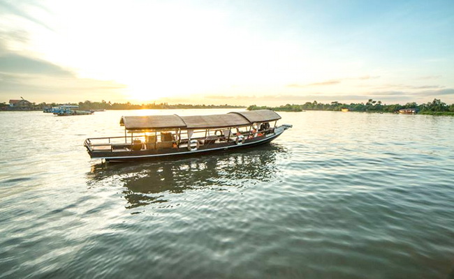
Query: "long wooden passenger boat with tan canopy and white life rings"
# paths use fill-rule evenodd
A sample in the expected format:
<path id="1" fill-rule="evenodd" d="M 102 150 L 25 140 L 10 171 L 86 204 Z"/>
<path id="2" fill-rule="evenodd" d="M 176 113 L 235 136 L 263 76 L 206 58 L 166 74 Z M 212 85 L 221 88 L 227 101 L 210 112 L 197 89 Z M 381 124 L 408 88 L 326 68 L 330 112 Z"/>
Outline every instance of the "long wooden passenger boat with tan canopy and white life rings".
<path id="1" fill-rule="evenodd" d="M 91 158 L 108 161 L 198 156 L 266 144 L 291 125 L 271 110 L 203 116 L 122 116 L 122 137 L 85 140 Z"/>

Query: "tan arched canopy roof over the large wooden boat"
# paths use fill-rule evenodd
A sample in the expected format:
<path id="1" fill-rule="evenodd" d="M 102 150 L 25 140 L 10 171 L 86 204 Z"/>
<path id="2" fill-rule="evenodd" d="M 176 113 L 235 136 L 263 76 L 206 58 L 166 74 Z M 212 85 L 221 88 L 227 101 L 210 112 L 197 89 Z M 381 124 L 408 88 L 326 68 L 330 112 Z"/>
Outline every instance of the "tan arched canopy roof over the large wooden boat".
<path id="1" fill-rule="evenodd" d="M 272 110 L 254 110 L 251 112 L 230 112 L 228 114 L 212 114 L 197 116 L 152 115 L 122 116 L 120 125 L 126 130 L 156 130 L 166 128 L 207 129 L 248 126 L 252 123 L 267 122 L 281 119 Z"/>

